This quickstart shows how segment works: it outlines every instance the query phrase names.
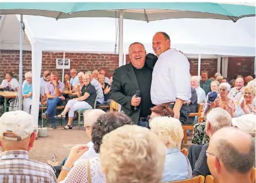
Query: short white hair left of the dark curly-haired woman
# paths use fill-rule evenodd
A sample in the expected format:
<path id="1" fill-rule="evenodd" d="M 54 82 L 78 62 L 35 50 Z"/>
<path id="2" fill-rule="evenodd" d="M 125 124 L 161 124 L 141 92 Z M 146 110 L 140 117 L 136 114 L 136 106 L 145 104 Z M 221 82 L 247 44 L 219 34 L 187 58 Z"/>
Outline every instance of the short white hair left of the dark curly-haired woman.
<path id="1" fill-rule="evenodd" d="M 84 123 L 88 124 L 90 127 L 93 126 L 101 114 L 106 114 L 106 112 L 101 109 L 89 109 L 85 111 L 83 114 Z"/>

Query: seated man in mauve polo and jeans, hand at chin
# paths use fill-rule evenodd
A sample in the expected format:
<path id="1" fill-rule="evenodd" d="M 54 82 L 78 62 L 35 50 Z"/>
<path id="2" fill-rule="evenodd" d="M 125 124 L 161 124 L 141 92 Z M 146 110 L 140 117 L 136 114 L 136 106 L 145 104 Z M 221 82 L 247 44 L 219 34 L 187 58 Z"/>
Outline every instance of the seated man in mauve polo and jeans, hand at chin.
<path id="1" fill-rule="evenodd" d="M 45 95 L 47 96 L 47 110 L 42 114 L 43 118 L 50 117 L 52 122 L 52 128 L 56 129 L 56 121 L 54 116 L 56 115 L 56 107 L 63 103 L 65 100 L 62 93 L 65 89 L 64 83 L 58 80 L 58 72 L 51 72 L 51 82 L 45 84 Z"/>

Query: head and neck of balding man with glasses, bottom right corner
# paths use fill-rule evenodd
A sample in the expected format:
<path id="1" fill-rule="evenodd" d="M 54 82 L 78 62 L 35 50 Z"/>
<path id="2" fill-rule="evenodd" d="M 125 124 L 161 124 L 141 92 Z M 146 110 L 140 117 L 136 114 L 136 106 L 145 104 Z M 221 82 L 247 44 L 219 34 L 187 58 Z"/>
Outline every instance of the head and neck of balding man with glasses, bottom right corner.
<path id="1" fill-rule="evenodd" d="M 255 161 L 255 143 L 242 130 L 218 130 L 210 140 L 206 156 L 211 174 L 217 182 L 252 182 L 250 176 Z"/>

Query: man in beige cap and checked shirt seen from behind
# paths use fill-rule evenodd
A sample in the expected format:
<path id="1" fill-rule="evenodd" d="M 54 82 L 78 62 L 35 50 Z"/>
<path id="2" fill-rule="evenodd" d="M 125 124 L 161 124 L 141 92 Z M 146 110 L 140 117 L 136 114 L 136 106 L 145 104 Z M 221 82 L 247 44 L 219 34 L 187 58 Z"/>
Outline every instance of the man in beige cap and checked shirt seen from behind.
<path id="1" fill-rule="evenodd" d="M 48 164 L 30 160 L 36 135 L 33 117 L 25 111 L 11 111 L 0 117 L 0 182 L 57 182 Z"/>

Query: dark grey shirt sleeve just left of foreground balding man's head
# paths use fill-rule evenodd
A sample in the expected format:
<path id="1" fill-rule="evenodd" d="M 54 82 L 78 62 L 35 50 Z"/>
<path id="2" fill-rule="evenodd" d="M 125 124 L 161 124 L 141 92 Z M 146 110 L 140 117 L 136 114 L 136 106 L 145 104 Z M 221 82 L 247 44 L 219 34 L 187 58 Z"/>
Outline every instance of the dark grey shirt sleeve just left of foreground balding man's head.
<path id="1" fill-rule="evenodd" d="M 206 156 L 206 150 L 208 148 L 208 145 L 204 145 L 200 151 L 198 160 L 196 161 L 196 164 L 194 164 L 193 169 L 193 175 L 195 176 L 208 176 L 211 175 L 211 172 L 209 171 L 208 164 L 207 164 L 207 156 Z"/>

